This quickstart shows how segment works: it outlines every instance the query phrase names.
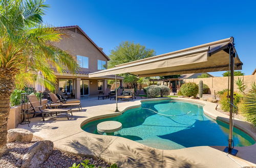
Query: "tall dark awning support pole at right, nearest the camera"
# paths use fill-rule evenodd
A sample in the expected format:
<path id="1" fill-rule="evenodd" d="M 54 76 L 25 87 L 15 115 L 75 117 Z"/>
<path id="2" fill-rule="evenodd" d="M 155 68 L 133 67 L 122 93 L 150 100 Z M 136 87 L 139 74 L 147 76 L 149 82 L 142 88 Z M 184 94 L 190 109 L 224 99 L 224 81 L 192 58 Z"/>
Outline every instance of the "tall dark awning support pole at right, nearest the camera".
<path id="1" fill-rule="evenodd" d="M 234 97 L 234 58 L 236 53 L 233 48 L 233 39 L 229 48 L 229 58 L 230 58 L 230 104 L 229 104 L 229 136 L 228 136 L 228 147 L 227 152 L 232 155 L 236 155 L 238 150 L 233 149 L 233 97 Z M 226 151 L 226 149 L 224 150 Z"/>

